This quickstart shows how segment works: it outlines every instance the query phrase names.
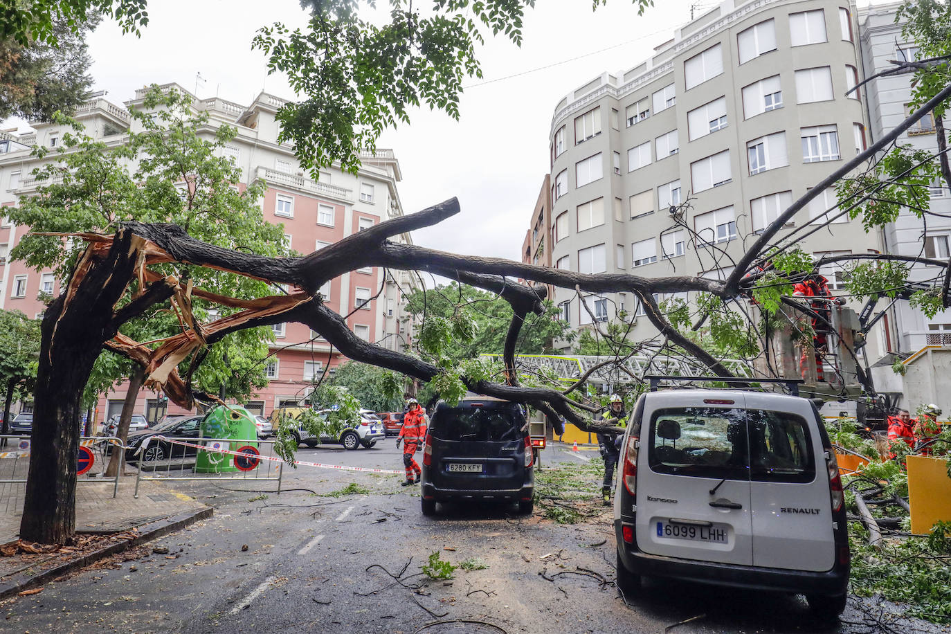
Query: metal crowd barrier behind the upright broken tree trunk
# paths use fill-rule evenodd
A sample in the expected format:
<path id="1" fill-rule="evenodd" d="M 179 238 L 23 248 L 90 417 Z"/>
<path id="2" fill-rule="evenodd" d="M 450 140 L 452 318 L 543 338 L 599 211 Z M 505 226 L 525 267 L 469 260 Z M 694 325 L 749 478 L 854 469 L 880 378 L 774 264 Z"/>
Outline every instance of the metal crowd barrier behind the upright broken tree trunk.
<path id="1" fill-rule="evenodd" d="M 29 475 L 30 436 L 0 435 L 0 484 L 25 483 Z M 106 479 L 108 459 L 112 449 L 122 447 L 117 436 L 80 436 L 77 456 L 76 484 L 112 482 L 112 497 L 119 491 L 125 455 L 119 453 L 119 469 L 115 477 Z M 96 467 L 98 466 L 98 469 Z"/>

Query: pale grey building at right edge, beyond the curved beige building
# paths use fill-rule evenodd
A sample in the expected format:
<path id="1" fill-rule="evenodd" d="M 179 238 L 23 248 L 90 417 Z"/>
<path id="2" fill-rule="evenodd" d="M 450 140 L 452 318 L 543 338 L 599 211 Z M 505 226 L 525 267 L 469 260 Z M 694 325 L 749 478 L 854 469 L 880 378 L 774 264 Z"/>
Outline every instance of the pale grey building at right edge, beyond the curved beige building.
<path id="1" fill-rule="evenodd" d="M 901 3 L 866 7 L 860 11 L 859 33 L 862 60 L 866 77 L 893 68 L 890 60 L 915 60 L 918 48 L 902 36 L 902 24 L 895 24 Z M 879 139 L 890 132 L 909 114 L 911 80 L 914 74 L 878 77 L 865 85 L 867 94 L 869 133 Z M 938 152 L 935 122 L 930 114 L 908 129 L 899 139 L 932 154 Z M 944 186 L 931 189 L 931 211 L 927 223 L 911 211 L 902 209 L 898 220 L 884 227 L 884 250 L 903 256 L 948 259 L 951 240 L 951 192 Z M 911 281 L 931 281 L 941 269 L 916 264 L 909 272 Z M 935 317 L 927 317 L 907 301 L 898 301 L 889 311 L 885 322 L 886 333 L 893 346 L 891 350 L 914 353 L 927 345 L 951 345 L 951 310 Z"/>

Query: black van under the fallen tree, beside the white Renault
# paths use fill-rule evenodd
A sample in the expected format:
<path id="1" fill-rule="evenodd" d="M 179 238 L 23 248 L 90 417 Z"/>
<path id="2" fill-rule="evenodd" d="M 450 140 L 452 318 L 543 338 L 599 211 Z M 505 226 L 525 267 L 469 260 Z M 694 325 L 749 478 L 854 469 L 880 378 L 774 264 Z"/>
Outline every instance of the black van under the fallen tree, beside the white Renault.
<path id="1" fill-rule="evenodd" d="M 534 507 L 532 440 L 521 408 L 496 398 L 466 396 L 433 413 L 422 463 L 422 513 L 437 502 L 490 499 Z"/>

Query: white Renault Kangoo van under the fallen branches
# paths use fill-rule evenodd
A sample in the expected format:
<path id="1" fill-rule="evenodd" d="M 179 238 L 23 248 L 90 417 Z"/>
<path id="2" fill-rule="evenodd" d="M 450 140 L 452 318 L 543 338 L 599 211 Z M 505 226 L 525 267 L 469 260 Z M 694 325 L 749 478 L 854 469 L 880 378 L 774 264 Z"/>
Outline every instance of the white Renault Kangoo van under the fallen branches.
<path id="1" fill-rule="evenodd" d="M 842 612 L 844 493 L 815 405 L 785 394 L 669 390 L 637 401 L 614 497 L 617 582 L 641 575 L 805 594 Z"/>

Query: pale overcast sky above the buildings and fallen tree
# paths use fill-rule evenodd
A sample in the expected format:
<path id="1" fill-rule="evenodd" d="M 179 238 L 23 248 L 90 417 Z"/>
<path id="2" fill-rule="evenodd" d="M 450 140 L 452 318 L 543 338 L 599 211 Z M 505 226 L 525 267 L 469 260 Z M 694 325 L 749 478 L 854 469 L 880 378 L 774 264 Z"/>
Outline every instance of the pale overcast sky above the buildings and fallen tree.
<path id="1" fill-rule="evenodd" d="M 710 0 L 656 4 L 638 16 L 625 0 L 596 11 L 590 0 L 541 0 L 528 10 L 521 48 L 487 38 L 478 52 L 484 77 L 467 83 L 458 122 L 417 110 L 410 125 L 387 130 L 378 147 L 396 151 L 404 211 L 453 196 L 462 205 L 456 219 L 418 231 L 414 240 L 456 253 L 518 259 L 549 168 L 554 106 L 600 73 L 649 57 L 689 20 L 691 5 L 697 15 L 716 6 Z M 197 72 L 204 78 L 197 85 L 200 98 L 217 94 L 249 104 L 262 88 L 295 98 L 284 78 L 267 76 L 262 52 L 251 50 L 251 40 L 275 21 L 302 24 L 306 16 L 297 0 L 157 0 L 148 12 L 141 38 L 122 35 L 105 21 L 89 39 L 95 87 L 108 90 L 110 100 L 124 102 L 151 83 L 177 82 L 193 90 Z"/>

